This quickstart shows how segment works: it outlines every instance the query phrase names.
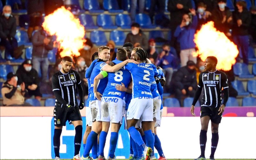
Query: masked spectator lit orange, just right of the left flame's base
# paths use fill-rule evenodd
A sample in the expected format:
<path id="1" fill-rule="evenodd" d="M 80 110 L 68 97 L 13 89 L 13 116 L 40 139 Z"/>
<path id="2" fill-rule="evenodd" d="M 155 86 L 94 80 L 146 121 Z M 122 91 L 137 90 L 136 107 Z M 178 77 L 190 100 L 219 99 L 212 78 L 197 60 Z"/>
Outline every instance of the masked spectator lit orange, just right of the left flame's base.
<path id="1" fill-rule="evenodd" d="M 85 38 L 84 48 L 80 50 L 80 56 L 85 60 L 87 66 L 91 64 L 91 56 L 94 52 L 98 52 L 98 47 L 96 47 L 89 38 Z"/>

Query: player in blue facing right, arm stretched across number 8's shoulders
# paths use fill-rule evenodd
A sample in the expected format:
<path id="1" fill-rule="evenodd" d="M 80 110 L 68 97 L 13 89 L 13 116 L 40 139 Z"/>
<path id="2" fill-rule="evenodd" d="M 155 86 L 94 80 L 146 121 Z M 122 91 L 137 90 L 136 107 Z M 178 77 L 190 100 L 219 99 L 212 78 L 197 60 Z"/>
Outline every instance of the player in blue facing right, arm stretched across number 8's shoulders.
<path id="1" fill-rule="evenodd" d="M 107 46 L 101 46 L 98 49 L 99 52 L 99 58 L 103 61 L 97 62 L 94 65 L 94 68 L 92 69 L 92 73 L 90 75 L 90 81 L 93 82 L 94 78 L 100 73 L 100 71 L 106 71 L 106 72 L 115 72 L 119 69 L 121 69 L 125 64 L 129 62 L 138 63 L 134 60 L 125 60 L 119 64 L 116 64 L 115 66 L 109 66 L 107 65 L 106 61 L 109 60 L 110 57 L 110 48 Z M 97 91 L 100 92 L 100 94 L 103 94 L 103 91 L 105 90 L 108 83 L 108 79 L 103 78 L 99 84 Z M 93 84 L 91 84 L 92 91 L 93 91 Z M 88 135 L 88 138 L 86 140 L 86 145 L 84 148 L 84 154 L 82 156 L 83 159 L 91 159 L 89 157 L 89 152 L 92 149 L 92 145 L 94 140 L 97 138 L 98 134 L 101 132 L 101 121 L 100 121 L 100 100 L 98 100 L 95 95 L 92 93 L 91 97 L 88 98 L 89 100 L 89 107 L 91 108 L 92 112 L 92 131 Z"/>

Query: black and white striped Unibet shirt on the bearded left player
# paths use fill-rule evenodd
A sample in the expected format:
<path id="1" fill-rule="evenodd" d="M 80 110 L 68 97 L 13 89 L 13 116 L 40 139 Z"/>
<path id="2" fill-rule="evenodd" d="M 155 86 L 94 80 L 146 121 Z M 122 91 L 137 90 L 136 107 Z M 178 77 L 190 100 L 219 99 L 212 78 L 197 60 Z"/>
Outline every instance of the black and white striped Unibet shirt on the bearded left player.
<path id="1" fill-rule="evenodd" d="M 58 71 L 52 76 L 52 91 L 59 90 L 62 99 L 73 107 L 78 107 L 76 100 L 78 84 L 81 84 L 80 76 L 72 69 L 67 74 Z M 56 102 L 58 102 L 57 99 Z"/>

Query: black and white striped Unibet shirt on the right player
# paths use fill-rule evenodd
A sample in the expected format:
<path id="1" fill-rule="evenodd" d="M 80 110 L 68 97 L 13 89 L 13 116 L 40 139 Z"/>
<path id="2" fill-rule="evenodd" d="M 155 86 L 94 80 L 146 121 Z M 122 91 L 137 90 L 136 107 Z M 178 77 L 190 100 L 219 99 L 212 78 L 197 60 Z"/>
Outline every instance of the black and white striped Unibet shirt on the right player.
<path id="1" fill-rule="evenodd" d="M 203 100 L 201 106 L 220 107 L 221 90 L 228 88 L 228 78 L 224 72 L 204 71 L 199 75 L 198 87 L 203 87 Z"/>

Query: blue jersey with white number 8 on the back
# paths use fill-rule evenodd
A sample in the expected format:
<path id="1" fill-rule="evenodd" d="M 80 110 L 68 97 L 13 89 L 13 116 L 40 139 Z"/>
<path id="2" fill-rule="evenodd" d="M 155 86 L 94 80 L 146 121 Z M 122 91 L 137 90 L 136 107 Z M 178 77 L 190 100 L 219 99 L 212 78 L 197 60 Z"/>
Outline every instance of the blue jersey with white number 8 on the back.
<path id="1" fill-rule="evenodd" d="M 123 61 L 113 60 L 112 62 L 118 64 Z M 128 70 L 125 70 L 124 68 L 121 68 L 116 72 L 108 72 L 108 84 L 105 91 L 103 92 L 102 97 L 117 97 L 123 99 L 125 96 L 125 92 L 117 91 L 116 85 L 122 85 L 123 83 L 127 88 L 131 79 L 131 73 Z"/>

